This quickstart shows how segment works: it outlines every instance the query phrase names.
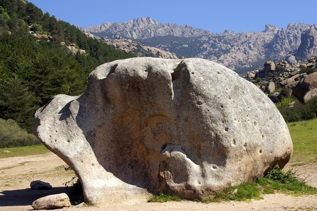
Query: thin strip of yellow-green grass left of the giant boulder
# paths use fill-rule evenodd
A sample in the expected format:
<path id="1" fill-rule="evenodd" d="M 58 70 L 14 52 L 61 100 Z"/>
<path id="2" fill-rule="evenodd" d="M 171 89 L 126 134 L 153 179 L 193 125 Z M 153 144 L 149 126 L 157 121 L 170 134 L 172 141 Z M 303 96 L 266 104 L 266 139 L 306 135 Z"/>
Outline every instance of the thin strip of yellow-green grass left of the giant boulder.
<path id="1" fill-rule="evenodd" d="M 3 151 L 10 151 L 10 153 L 2 153 Z M 14 147 L 14 148 L 2 148 L 0 149 L 0 158 L 9 157 L 21 157 L 21 156 L 31 156 L 31 155 L 43 155 L 50 153 L 44 145 L 35 145 L 27 147 Z"/>

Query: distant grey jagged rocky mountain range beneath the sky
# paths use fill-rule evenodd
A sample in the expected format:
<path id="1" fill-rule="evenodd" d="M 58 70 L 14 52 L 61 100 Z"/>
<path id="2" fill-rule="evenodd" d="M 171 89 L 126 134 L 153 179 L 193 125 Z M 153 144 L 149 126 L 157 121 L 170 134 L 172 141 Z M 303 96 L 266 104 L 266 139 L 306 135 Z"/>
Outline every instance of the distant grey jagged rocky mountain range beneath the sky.
<path id="1" fill-rule="evenodd" d="M 209 59 L 237 72 L 263 66 L 266 60 L 285 59 L 294 54 L 297 55 L 297 60 L 307 60 L 317 54 L 317 39 L 311 39 L 316 36 L 316 27 L 303 23 L 290 23 L 286 29 L 265 25 L 264 31 L 257 33 L 235 33 L 226 29 L 223 33 L 216 34 L 189 25 L 163 24 L 150 17 L 143 17 L 124 23 L 104 23 L 79 28 L 100 38 L 115 39 L 121 36 L 146 46 L 176 53 L 178 57 Z M 311 34 L 308 38 L 310 47 L 305 46 L 302 48 L 305 51 L 298 53 L 303 42 L 302 34 L 307 31 Z"/>

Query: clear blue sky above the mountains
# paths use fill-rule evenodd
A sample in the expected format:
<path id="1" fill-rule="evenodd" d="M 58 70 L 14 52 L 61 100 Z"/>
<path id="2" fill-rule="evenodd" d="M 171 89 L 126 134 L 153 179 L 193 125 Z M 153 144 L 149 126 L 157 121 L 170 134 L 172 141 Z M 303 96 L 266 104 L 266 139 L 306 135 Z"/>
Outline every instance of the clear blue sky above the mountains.
<path id="1" fill-rule="evenodd" d="M 222 33 L 260 32 L 265 24 L 286 28 L 288 23 L 317 25 L 316 0 L 29 0 L 81 27 L 151 17 L 159 23 L 188 24 Z"/>

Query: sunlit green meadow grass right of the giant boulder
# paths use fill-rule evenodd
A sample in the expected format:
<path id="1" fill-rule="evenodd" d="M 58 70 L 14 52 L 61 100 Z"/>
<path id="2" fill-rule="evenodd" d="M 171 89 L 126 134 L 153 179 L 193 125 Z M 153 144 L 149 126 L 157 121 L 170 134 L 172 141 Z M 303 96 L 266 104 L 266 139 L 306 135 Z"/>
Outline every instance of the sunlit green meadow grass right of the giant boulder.
<path id="1" fill-rule="evenodd" d="M 309 163 L 317 161 L 317 119 L 288 123 L 293 141 L 291 162 Z"/>

